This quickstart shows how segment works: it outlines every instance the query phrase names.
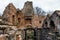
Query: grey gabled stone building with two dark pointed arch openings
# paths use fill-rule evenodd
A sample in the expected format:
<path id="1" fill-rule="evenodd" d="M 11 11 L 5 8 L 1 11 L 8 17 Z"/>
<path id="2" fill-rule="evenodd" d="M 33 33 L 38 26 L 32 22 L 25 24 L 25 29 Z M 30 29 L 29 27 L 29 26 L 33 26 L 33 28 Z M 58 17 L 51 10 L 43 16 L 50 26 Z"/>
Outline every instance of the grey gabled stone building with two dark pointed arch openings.
<path id="1" fill-rule="evenodd" d="M 52 15 L 47 15 L 46 19 L 44 20 L 43 26 L 45 28 L 50 28 L 51 30 L 53 30 L 54 32 L 58 31 L 58 27 L 60 24 L 60 18 L 59 15 L 60 11 L 55 11 Z"/>

